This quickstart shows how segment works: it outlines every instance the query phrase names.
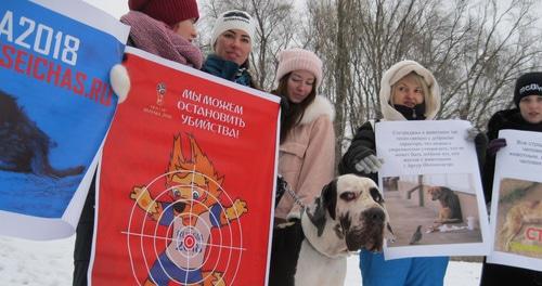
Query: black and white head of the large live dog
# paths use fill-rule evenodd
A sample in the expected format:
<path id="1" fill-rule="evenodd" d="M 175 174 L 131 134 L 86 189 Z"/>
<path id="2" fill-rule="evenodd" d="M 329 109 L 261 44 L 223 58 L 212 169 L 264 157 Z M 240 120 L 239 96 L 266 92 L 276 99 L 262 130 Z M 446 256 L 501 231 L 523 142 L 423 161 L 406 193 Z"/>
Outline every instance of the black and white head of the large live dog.
<path id="1" fill-rule="evenodd" d="M 382 250 L 388 216 L 382 194 L 371 179 L 338 177 L 324 186 L 307 214 L 318 229 L 318 236 L 333 226 L 334 235 L 344 239 L 350 251 L 362 247 Z"/>

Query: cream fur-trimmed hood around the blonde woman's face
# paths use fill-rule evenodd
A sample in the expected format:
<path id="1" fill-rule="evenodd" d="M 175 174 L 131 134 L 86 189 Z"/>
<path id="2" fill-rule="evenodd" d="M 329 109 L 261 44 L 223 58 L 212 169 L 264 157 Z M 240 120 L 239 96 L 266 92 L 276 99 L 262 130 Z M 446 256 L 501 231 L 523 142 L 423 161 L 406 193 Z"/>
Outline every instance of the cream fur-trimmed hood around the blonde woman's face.
<path id="1" fill-rule="evenodd" d="M 406 120 L 402 114 L 389 104 L 389 101 L 391 86 L 411 72 L 422 76 L 429 88 L 429 94 L 425 94 L 426 120 L 434 119 L 440 109 L 440 89 L 433 74 L 414 61 L 401 61 L 392 65 L 382 77 L 379 96 L 383 120 Z"/>

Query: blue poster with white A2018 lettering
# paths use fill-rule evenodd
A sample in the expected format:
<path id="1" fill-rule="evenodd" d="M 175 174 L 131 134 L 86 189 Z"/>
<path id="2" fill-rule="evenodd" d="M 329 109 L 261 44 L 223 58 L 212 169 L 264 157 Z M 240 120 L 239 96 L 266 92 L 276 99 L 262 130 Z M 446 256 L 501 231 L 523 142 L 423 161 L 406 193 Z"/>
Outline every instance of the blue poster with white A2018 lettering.
<path id="1" fill-rule="evenodd" d="M 75 232 L 115 112 L 128 27 L 81 1 L 0 6 L 0 234 Z"/>

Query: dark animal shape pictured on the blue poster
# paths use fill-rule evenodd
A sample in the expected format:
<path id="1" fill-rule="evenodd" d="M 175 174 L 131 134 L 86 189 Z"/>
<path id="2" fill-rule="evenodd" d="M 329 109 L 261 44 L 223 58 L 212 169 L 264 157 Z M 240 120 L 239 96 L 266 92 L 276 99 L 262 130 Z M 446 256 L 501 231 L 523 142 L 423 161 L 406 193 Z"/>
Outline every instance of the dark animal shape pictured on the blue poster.
<path id="1" fill-rule="evenodd" d="M 79 174 L 83 166 L 53 168 L 49 150 L 55 143 L 31 121 L 16 100 L 0 91 L 0 170 L 51 178 Z"/>

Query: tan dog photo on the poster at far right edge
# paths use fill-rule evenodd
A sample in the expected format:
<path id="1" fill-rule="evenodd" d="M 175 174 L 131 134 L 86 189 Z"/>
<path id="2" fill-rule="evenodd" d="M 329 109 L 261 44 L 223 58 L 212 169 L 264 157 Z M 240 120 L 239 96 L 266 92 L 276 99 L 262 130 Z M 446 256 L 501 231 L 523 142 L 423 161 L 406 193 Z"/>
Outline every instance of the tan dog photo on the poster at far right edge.
<path id="1" fill-rule="evenodd" d="M 498 250 L 542 257 L 542 183 L 503 179 L 496 218 Z"/>

